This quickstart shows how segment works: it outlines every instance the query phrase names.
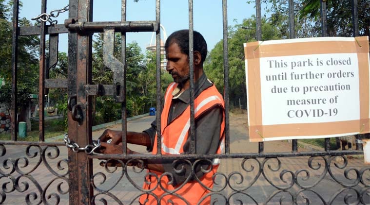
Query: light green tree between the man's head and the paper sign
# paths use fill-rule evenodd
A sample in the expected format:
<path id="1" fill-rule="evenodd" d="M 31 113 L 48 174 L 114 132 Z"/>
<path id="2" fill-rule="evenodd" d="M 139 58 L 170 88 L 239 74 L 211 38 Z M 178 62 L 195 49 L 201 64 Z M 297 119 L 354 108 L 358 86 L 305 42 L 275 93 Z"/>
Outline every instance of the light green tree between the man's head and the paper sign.
<path id="1" fill-rule="evenodd" d="M 229 28 L 229 99 L 231 105 L 239 105 L 239 99 L 246 108 L 245 57 L 243 43 L 256 41 L 255 17 L 244 19 L 242 24 Z M 262 40 L 282 38 L 281 32 L 266 17 L 262 18 Z M 210 51 L 204 69 L 220 93 L 224 92 L 223 41 L 219 41 Z"/>

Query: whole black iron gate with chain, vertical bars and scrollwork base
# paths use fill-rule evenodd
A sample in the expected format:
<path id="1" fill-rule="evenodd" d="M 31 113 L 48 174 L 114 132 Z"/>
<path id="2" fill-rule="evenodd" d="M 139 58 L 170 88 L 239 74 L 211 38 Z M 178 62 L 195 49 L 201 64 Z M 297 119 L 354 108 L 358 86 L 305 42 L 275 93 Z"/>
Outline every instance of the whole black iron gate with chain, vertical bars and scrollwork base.
<path id="1" fill-rule="evenodd" d="M 14 0 L 13 15 L 13 58 L 12 58 L 12 99 L 17 98 L 18 37 L 23 35 L 40 36 L 39 59 L 39 142 L 25 142 L 17 139 L 16 120 L 12 121 L 12 141 L 0 142 L 0 203 L 14 204 L 15 198 L 22 204 L 138 204 L 138 197 L 151 191 L 141 188 L 144 182 L 144 169 L 132 167 L 104 168 L 94 170 L 93 165 L 111 158 L 136 160 L 178 159 L 194 165 L 199 161 L 220 158 L 222 163 L 233 163 L 238 169 L 229 173 L 221 172 L 214 176 L 215 186 L 210 189 L 214 204 L 368 204 L 370 195 L 370 168 L 361 164 L 351 167 L 349 155 L 363 154 L 361 144 L 358 150 L 330 150 L 330 138 L 325 139 L 325 151 L 298 152 L 297 140 L 292 140 L 292 150 L 270 153 L 264 151 L 264 143 L 259 142 L 257 153 L 238 153 L 230 150 L 229 127 L 229 88 L 228 77 L 224 78 L 226 143 L 225 154 L 195 154 L 195 132 L 191 132 L 192 153 L 180 156 L 122 154 L 93 154 L 97 142 L 92 139 L 92 96 L 111 95 L 122 103 L 122 133 L 126 142 L 126 51 L 122 49 L 121 59 L 113 57 L 114 34 L 122 35 L 122 48 L 126 47 L 126 33 L 156 32 L 156 84 L 160 85 L 160 0 L 156 0 L 156 20 L 126 21 L 126 0 L 122 0 L 121 21 L 93 22 L 93 0 L 69 0 L 69 5 L 54 13 L 46 13 L 46 0 L 41 0 L 39 26 L 19 27 L 19 0 Z M 358 35 L 357 0 L 353 0 L 353 30 Z M 294 38 L 293 0 L 290 5 L 290 37 Z M 326 31 L 326 0 L 320 1 L 322 14 L 322 34 Z M 261 2 L 256 0 L 256 38 L 262 39 Z M 53 8 L 54 9 L 54 8 Z M 64 24 L 55 24 L 51 17 L 68 11 L 69 17 Z M 228 22 L 227 0 L 222 0 L 224 76 L 228 76 Z M 193 31 L 193 0 L 189 0 L 189 30 Z M 49 79 L 46 74 L 58 61 L 58 34 L 68 33 L 68 79 Z M 104 33 L 105 65 L 114 72 L 113 85 L 93 85 L 92 78 L 92 35 Z M 45 59 L 46 36 L 49 35 L 49 57 Z M 190 34 L 190 41 L 193 36 Z M 192 61 L 190 44 L 190 61 Z M 48 62 L 48 63 L 45 63 Z M 193 73 L 191 67 L 190 73 Z M 45 142 L 44 138 L 44 98 L 49 88 L 68 90 L 68 137 L 65 142 Z M 156 110 L 161 111 L 161 86 L 156 90 Z M 194 82 L 191 82 L 194 90 Z M 194 128 L 194 96 L 191 97 L 191 127 Z M 13 100 L 12 116 L 17 114 L 17 102 Z M 160 115 L 156 116 L 160 122 Z M 160 123 L 157 123 L 160 124 Z M 158 129 L 160 130 L 160 128 Z M 158 132 L 158 136 L 159 132 Z M 361 139 L 361 136 L 357 136 Z M 160 140 L 160 138 L 158 138 Z M 68 149 L 68 157 L 60 152 Z M 15 147 L 15 146 L 16 147 Z M 24 157 L 12 157 L 12 152 L 25 146 Z M 7 147 L 11 147 L 8 148 Z M 123 153 L 127 146 L 123 143 Z M 158 143 L 160 150 L 160 143 Z M 60 159 L 61 158 L 61 159 Z M 50 161 L 57 159 L 52 165 Z M 194 162 L 192 159 L 196 159 Z M 338 160 L 339 159 L 339 160 Z M 32 162 L 31 162 L 32 161 Z M 304 161 L 306 166 L 292 169 L 292 164 Z M 286 163 L 286 164 L 285 164 Z M 36 169 L 43 169 L 41 172 Z M 49 176 L 45 182 L 40 175 Z M 137 175 L 133 177 L 132 175 Z M 160 177 L 160 176 L 157 176 Z M 109 179 L 111 181 L 109 181 Z M 139 181 L 138 181 L 139 180 Z M 109 183 L 108 183 L 109 181 Z M 258 184 L 262 182 L 262 185 Z M 329 190 L 325 186 L 331 183 Z M 322 185 L 324 184 L 324 186 Z M 183 186 L 183 185 L 180 185 Z M 54 187 L 54 188 L 52 188 Z M 270 188 L 266 188 L 270 187 Z M 265 195 L 261 190 L 268 191 Z M 270 192 L 271 191 L 271 192 Z M 176 193 L 168 190 L 169 194 Z M 263 197 L 265 196 L 265 197 Z M 159 201 L 160 198 L 157 198 Z M 171 202 L 168 202 L 171 203 Z M 186 202 L 184 202 L 186 203 Z"/>

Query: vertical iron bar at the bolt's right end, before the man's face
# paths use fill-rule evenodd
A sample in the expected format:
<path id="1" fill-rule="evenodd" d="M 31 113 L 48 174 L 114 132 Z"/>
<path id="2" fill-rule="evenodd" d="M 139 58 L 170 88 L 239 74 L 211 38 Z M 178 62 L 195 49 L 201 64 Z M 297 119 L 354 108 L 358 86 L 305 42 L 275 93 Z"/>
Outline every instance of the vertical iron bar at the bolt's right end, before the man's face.
<path id="1" fill-rule="evenodd" d="M 160 0 L 156 0 L 156 22 L 160 25 Z M 162 102 L 161 102 L 161 68 L 160 68 L 160 26 L 156 31 L 156 112 L 162 113 Z M 161 118 L 160 114 L 156 115 L 156 126 L 157 126 L 157 142 L 161 139 Z M 162 144 L 157 143 L 157 154 L 161 155 Z"/>

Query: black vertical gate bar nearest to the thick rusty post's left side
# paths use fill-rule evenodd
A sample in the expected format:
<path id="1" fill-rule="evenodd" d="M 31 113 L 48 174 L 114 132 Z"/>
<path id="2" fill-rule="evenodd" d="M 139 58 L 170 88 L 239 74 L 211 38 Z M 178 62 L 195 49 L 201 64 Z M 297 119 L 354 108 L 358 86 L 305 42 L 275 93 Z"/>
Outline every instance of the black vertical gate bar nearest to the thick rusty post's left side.
<path id="1" fill-rule="evenodd" d="M 41 0 L 41 14 L 46 13 L 46 0 Z M 39 141 L 45 141 L 44 131 L 44 95 L 45 95 L 45 25 L 46 22 L 40 22 L 40 56 L 39 56 Z"/>

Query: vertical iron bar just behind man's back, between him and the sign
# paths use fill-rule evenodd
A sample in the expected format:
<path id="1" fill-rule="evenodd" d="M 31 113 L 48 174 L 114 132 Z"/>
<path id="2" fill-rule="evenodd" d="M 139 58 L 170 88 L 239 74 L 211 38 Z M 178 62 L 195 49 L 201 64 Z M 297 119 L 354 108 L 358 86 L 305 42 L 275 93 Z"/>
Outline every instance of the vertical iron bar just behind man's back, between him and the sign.
<path id="1" fill-rule="evenodd" d="M 229 125 L 229 45 L 228 45 L 228 20 L 227 0 L 222 0 L 222 26 L 223 26 L 223 49 L 224 49 L 224 102 L 225 102 L 225 154 L 230 154 L 230 125 Z"/>

